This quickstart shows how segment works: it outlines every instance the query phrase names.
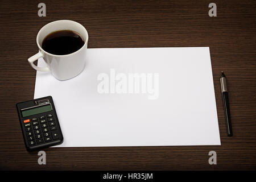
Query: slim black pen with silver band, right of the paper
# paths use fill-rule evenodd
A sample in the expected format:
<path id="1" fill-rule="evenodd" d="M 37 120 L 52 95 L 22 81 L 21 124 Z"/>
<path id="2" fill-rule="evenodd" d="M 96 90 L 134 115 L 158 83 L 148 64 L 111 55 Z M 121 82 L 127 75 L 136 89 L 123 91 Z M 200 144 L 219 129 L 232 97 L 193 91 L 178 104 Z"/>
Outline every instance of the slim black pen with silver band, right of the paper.
<path id="1" fill-rule="evenodd" d="M 231 119 L 230 119 L 230 111 L 229 111 L 229 96 L 228 96 L 228 89 L 226 88 L 226 77 L 223 72 L 221 72 L 221 92 L 222 92 L 222 99 L 224 105 L 224 113 L 226 118 L 226 131 L 228 132 L 228 137 L 232 137 L 232 126 L 231 126 Z"/>

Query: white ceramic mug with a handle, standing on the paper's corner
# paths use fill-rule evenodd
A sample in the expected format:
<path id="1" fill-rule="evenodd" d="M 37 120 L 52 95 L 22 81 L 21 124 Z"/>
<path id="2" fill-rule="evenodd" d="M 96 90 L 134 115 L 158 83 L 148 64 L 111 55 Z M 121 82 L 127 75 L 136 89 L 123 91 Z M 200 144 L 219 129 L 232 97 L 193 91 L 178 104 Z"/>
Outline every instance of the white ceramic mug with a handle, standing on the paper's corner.
<path id="1" fill-rule="evenodd" d="M 78 51 L 68 55 L 53 55 L 42 49 L 42 42 L 47 35 L 59 30 L 71 30 L 77 32 L 82 39 L 84 39 L 84 46 Z M 34 56 L 28 58 L 28 63 L 37 71 L 50 71 L 52 75 L 58 80 L 67 80 L 73 78 L 84 70 L 85 56 L 88 44 L 88 32 L 80 23 L 72 20 L 57 20 L 43 26 L 36 36 L 36 43 L 38 44 L 39 52 Z M 34 64 L 34 61 L 43 57 L 47 63 L 47 67 L 40 68 Z"/>

